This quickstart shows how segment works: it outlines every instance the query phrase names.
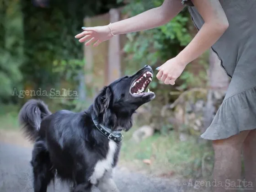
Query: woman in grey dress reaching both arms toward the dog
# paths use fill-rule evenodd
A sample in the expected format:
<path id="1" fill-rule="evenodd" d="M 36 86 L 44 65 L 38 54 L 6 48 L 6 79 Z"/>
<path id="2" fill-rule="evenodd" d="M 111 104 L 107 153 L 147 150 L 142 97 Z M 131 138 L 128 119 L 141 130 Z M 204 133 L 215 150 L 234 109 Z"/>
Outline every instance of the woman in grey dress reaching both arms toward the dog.
<path id="1" fill-rule="evenodd" d="M 174 85 L 184 68 L 208 48 L 219 56 L 232 79 L 213 122 L 203 139 L 213 140 L 215 163 L 214 192 L 228 189 L 241 174 L 241 149 L 244 152 L 245 188 L 256 185 L 256 18 L 255 0 L 165 0 L 157 8 L 107 26 L 83 27 L 76 35 L 85 45 L 99 45 L 114 35 L 138 32 L 164 25 L 188 5 L 199 30 L 193 40 L 175 58 L 162 64 L 156 77 Z M 241 185 L 241 183 L 240 183 Z M 233 186 L 234 187 L 234 186 Z M 256 187 L 254 188 L 256 190 Z"/>

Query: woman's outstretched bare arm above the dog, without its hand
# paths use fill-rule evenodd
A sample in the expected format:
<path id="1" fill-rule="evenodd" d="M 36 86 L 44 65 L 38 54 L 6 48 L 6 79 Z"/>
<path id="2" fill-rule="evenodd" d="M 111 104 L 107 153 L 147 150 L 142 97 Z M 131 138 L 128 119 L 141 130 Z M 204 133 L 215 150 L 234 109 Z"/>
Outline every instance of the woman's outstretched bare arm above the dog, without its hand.
<path id="1" fill-rule="evenodd" d="M 114 35 L 152 29 L 170 21 L 183 7 L 180 0 L 165 0 L 160 7 L 150 9 L 122 21 L 111 23 L 110 27 Z"/>

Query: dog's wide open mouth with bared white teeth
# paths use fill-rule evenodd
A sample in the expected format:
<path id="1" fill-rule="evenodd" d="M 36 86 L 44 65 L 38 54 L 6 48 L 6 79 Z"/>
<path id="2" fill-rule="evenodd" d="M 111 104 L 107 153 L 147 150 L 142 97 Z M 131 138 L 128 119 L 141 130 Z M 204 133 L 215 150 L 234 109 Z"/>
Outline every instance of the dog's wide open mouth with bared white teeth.
<path id="1" fill-rule="evenodd" d="M 154 94 L 154 92 L 146 89 L 149 83 L 152 81 L 152 73 L 150 71 L 146 71 L 143 75 L 141 75 L 138 79 L 136 79 L 130 89 L 130 92 L 133 96 L 145 96 L 149 94 Z"/>

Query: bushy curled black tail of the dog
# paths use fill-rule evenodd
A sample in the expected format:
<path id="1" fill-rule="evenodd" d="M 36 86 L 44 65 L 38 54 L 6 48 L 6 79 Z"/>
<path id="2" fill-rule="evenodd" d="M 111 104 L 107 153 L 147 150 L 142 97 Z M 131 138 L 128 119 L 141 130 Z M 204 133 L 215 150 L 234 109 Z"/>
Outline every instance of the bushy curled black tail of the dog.
<path id="1" fill-rule="evenodd" d="M 29 140 L 35 141 L 42 119 L 51 114 L 41 100 L 31 99 L 24 104 L 19 112 L 19 124 Z"/>

